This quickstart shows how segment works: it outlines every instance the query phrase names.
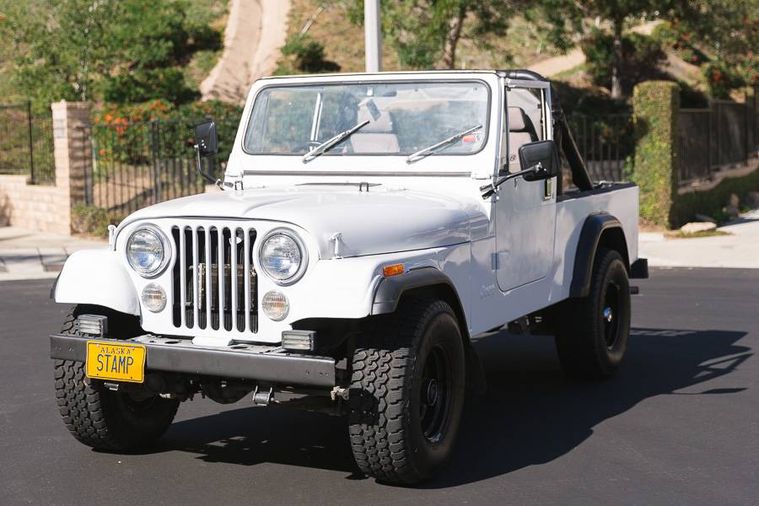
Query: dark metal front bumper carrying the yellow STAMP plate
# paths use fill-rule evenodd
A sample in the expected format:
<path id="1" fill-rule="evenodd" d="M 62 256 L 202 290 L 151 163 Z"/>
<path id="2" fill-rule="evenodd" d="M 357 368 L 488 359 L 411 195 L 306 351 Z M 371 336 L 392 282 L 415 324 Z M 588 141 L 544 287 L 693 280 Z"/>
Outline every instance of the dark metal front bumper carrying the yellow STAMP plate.
<path id="1" fill-rule="evenodd" d="M 90 338 L 53 334 L 50 358 L 84 362 Z M 141 344 L 147 349 L 146 369 L 223 378 L 240 378 L 282 385 L 335 386 L 335 360 L 283 352 L 279 347 L 252 344 L 198 346 L 191 341 L 144 335 L 127 340 L 97 339 Z"/>

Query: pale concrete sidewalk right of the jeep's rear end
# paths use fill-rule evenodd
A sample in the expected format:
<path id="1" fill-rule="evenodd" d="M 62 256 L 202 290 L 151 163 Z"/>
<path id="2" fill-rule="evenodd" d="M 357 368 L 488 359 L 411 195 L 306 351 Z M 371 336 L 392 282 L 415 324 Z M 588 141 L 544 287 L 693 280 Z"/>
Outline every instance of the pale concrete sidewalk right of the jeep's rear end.
<path id="1" fill-rule="evenodd" d="M 664 234 L 642 233 L 639 255 L 654 267 L 759 268 L 759 209 L 718 230 L 730 235 L 667 239 Z"/>

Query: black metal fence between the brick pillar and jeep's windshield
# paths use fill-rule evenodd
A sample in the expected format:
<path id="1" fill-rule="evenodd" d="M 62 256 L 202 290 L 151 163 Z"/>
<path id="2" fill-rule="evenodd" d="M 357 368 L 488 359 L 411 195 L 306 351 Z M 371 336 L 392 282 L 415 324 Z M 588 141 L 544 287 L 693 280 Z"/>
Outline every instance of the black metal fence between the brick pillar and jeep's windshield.
<path id="1" fill-rule="evenodd" d="M 229 156 L 238 118 L 217 119 L 222 150 L 203 160 L 205 171 L 220 177 Z M 127 215 L 164 200 L 200 193 L 207 182 L 198 174 L 192 125 L 183 121 L 96 124 L 80 130 L 85 159 L 84 204 Z M 87 139 L 90 142 L 87 142 Z M 226 142 L 225 142 L 226 141 Z"/>

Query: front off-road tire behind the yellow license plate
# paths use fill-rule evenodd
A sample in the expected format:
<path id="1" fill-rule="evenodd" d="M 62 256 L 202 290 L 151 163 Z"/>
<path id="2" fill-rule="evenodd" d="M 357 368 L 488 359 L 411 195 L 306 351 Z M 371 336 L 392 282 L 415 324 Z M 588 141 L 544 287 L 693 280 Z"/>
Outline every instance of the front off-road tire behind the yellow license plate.
<path id="1" fill-rule="evenodd" d="M 110 313 L 99 309 L 75 307 L 66 315 L 61 332 L 75 332 L 78 314 Z M 119 316 L 123 317 L 114 313 L 106 316 L 111 328 L 118 328 L 114 325 Z M 85 376 L 84 362 L 56 360 L 54 377 L 58 409 L 66 428 L 80 442 L 98 450 L 123 452 L 149 447 L 166 432 L 179 407 L 175 399 L 155 396 L 135 401 L 127 393 L 113 392 L 101 381 Z"/>

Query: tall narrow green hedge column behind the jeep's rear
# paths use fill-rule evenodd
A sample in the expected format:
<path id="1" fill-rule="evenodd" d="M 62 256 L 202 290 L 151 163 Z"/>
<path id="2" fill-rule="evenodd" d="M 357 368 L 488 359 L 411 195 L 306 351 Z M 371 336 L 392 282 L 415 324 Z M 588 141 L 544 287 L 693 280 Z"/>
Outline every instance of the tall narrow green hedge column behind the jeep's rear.
<path id="1" fill-rule="evenodd" d="M 647 81 L 635 87 L 635 171 L 640 187 L 640 216 L 656 225 L 672 224 L 677 196 L 677 119 L 679 88 L 668 81 Z"/>

